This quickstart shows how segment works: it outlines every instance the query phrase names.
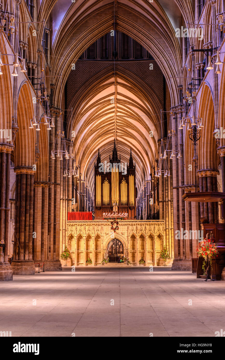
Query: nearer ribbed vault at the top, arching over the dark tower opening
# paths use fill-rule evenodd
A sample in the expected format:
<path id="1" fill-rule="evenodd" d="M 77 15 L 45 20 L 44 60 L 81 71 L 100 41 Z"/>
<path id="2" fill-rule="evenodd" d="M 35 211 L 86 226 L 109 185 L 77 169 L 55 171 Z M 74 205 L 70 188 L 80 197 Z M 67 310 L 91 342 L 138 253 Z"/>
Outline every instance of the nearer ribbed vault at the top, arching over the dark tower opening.
<path id="1" fill-rule="evenodd" d="M 46 16 L 53 5 L 54 2 L 49 8 L 46 5 L 43 8 Z M 116 29 L 131 36 L 153 55 L 169 87 L 171 83 L 172 104 L 176 104 L 177 76 L 181 76 L 181 51 L 175 30 L 162 6 L 155 1 L 122 1 L 115 9 Z M 40 10 L 39 20 L 43 15 L 44 12 Z M 108 0 L 77 1 L 67 10 L 57 31 L 51 55 L 52 75 L 62 73 L 62 88 L 71 71 L 71 64 L 76 63 L 88 46 L 114 28 L 113 15 L 114 2 Z M 56 102 L 60 94 L 59 81 L 59 78 L 54 78 Z"/>

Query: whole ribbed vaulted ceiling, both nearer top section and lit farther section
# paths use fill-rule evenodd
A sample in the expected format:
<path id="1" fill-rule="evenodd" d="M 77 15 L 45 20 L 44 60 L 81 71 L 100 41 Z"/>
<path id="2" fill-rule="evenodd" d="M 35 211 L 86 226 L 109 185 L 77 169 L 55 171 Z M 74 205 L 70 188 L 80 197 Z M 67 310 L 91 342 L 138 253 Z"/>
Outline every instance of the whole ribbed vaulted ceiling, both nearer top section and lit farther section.
<path id="1" fill-rule="evenodd" d="M 60 78 L 54 75 L 62 73 L 64 89 L 71 65 L 93 42 L 114 28 L 114 14 L 116 30 L 131 36 L 153 55 L 166 79 L 170 105 L 176 105 L 182 62 L 175 28 L 183 21 L 193 21 L 191 0 L 76 0 L 72 4 L 71 0 L 42 1 L 39 21 L 49 15 L 52 20 L 51 74 L 56 85 L 55 104 L 59 103 L 61 87 Z M 124 71 L 119 66 L 116 77 L 114 75 L 112 66 L 106 67 L 81 86 L 67 104 L 74 113 L 69 132 L 75 131 L 76 159 L 82 178 L 87 177 L 92 191 L 98 148 L 102 161 L 108 160 L 115 125 L 118 153 L 123 162 L 128 161 L 132 148 L 139 189 L 144 178 L 149 177 L 158 156 L 158 140 L 162 137 L 160 109 L 163 104 L 154 86 L 145 83 L 132 70 Z M 153 138 L 149 136 L 150 130 Z"/>

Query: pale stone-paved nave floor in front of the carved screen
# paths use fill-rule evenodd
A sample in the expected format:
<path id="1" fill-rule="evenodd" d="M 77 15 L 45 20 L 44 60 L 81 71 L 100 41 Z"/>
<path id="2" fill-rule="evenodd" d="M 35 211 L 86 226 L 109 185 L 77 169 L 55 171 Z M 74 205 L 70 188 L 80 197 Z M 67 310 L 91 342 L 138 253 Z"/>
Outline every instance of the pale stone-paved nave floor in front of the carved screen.
<path id="1" fill-rule="evenodd" d="M 225 282 L 164 267 L 15 275 L 0 282 L 0 303 L 0 331 L 12 336 L 215 337 L 225 330 Z"/>

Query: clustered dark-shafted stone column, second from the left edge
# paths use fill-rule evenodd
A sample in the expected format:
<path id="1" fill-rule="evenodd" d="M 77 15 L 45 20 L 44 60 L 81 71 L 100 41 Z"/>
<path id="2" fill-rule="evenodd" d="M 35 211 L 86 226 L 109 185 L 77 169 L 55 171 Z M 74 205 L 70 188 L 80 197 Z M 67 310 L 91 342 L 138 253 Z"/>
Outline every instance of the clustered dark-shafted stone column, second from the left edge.
<path id="1" fill-rule="evenodd" d="M 19 166 L 16 172 L 15 235 L 12 269 L 14 275 L 35 274 L 33 252 L 34 174 L 32 167 Z"/>

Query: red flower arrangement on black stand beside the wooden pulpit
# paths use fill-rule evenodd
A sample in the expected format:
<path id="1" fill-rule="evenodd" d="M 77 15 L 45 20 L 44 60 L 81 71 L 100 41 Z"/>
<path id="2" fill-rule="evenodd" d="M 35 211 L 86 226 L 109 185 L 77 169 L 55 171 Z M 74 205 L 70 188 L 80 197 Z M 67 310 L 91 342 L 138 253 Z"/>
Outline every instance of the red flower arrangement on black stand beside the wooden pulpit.
<path id="1" fill-rule="evenodd" d="M 198 257 L 202 256 L 204 259 L 202 264 L 202 270 L 203 270 L 203 275 L 206 275 L 205 281 L 207 281 L 208 279 L 212 280 L 212 274 L 210 274 L 209 276 L 209 266 L 212 268 L 212 257 L 213 256 L 215 257 L 215 255 L 218 254 L 217 246 L 214 240 L 215 239 L 213 238 L 211 231 L 209 239 L 204 238 L 204 240 L 200 242 L 200 244 L 197 246 L 196 249 Z"/>

